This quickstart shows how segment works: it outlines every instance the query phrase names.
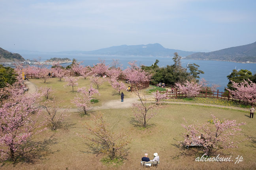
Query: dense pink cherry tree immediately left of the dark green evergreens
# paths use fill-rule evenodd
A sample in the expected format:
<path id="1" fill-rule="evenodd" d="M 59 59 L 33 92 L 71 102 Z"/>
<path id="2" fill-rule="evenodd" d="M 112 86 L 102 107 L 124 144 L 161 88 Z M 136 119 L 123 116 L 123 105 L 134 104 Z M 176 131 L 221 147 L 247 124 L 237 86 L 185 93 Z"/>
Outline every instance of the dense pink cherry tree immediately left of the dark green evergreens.
<path id="1" fill-rule="evenodd" d="M 129 62 L 129 65 L 130 67 L 126 68 L 123 73 L 124 77 L 128 79 L 130 83 L 137 84 L 150 81 L 152 75 L 137 67 L 136 61 Z"/>

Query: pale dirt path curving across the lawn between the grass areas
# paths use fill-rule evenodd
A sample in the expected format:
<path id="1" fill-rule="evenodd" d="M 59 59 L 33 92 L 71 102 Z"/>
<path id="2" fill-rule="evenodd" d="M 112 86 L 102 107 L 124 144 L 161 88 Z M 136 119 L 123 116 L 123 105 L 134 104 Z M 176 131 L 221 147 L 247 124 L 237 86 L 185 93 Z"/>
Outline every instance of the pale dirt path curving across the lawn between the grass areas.
<path id="1" fill-rule="evenodd" d="M 24 84 L 28 87 L 28 93 L 34 93 L 37 91 L 36 85 L 30 81 L 24 81 Z M 102 103 L 101 106 L 92 107 L 92 110 L 102 110 L 102 109 L 125 109 L 132 107 L 132 103 L 139 103 L 138 97 L 133 98 L 124 98 L 124 102 L 121 100 L 110 100 L 109 102 Z M 235 106 L 225 106 L 225 105 L 213 105 L 213 104 L 204 104 L 204 103 L 190 103 L 190 102 L 164 102 L 170 104 L 179 104 L 179 105 L 200 105 L 200 106 L 209 106 L 209 107 L 219 107 L 219 108 L 228 108 L 235 110 L 248 111 L 246 108 L 235 107 Z M 78 112 L 77 108 L 69 109 L 69 112 Z"/>

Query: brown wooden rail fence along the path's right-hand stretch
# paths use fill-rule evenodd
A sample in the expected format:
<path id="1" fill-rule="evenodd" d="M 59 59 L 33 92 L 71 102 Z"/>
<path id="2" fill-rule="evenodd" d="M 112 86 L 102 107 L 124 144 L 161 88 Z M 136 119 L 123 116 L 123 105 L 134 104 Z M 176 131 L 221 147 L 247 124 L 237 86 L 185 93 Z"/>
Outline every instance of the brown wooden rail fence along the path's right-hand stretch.
<path id="1" fill-rule="evenodd" d="M 166 89 L 166 91 L 160 91 L 160 94 L 165 94 L 167 93 L 169 98 L 185 98 L 186 95 L 183 94 L 181 91 L 178 91 L 178 89 L 174 89 L 174 91 L 168 91 L 168 89 Z M 243 102 L 241 100 L 237 100 L 235 98 L 233 98 L 232 95 L 230 95 L 230 92 L 220 92 L 219 90 L 217 91 L 209 91 L 207 90 L 207 88 L 205 88 L 205 90 L 200 91 L 200 93 L 198 95 L 196 95 L 196 97 L 204 97 L 204 98 L 216 98 L 216 99 L 224 99 L 224 100 L 228 100 L 228 101 L 233 101 L 233 102 Z M 256 103 L 249 103 L 250 105 L 256 105 Z"/>

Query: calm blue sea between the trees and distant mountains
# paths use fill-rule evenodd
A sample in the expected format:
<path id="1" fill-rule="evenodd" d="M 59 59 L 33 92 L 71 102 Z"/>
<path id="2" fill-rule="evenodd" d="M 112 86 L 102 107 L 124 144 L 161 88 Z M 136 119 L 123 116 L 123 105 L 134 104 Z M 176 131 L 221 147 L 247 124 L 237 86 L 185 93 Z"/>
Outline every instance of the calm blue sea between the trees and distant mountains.
<path id="1" fill-rule="evenodd" d="M 41 61 L 50 59 L 51 57 L 67 57 L 69 59 L 77 59 L 77 61 L 83 61 L 83 65 L 90 65 L 98 63 L 98 59 L 105 60 L 106 65 L 110 65 L 112 59 L 119 59 L 122 64 L 122 68 L 128 67 L 129 61 L 137 61 L 138 65 L 150 66 L 159 60 L 158 66 L 165 67 L 166 65 L 173 65 L 172 57 L 147 57 L 147 56 L 109 56 L 109 55 L 83 55 L 83 54 L 56 54 L 56 53 L 20 53 L 25 59 L 38 59 L 41 57 Z M 200 70 L 203 70 L 205 74 L 201 74 L 200 78 L 205 78 L 209 84 L 219 84 L 218 88 L 220 91 L 224 91 L 224 88 L 228 84 L 227 76 L 232 72 L 233 69 L 247 69 L 253 74 L 256 73 L 256 63 L 234 63 L 228 61 L 209 61 L 209 60 L 188 60 L 182 59 L 182 66 L 186 67 L 188 62 L 190 64 L 196 63 L 200 66 Z M 66 64 L 67 65 L 67 64 Z"/>

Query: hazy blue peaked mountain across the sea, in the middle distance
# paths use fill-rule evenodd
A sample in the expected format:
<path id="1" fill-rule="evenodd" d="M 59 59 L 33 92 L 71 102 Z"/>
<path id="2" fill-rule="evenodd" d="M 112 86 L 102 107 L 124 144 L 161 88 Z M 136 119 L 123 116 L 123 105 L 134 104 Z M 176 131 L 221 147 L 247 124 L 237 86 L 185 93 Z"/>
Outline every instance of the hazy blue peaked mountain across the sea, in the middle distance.
<path id="1" fill-rule="evenodd" d="M 196 52 L 187 52 L 182 50 L 174 50 L 164 48 L 161 44 L 147 44 L 147 45 L 120 45 L 109 48 L 102 48 L 94 51 L 65 51 L 58 53 L 65 54 L 88 54 L 88 55 L 135 55 L 135 56 L 173 56 L 177 52 L 182 57 L 185 57 Z"/>

